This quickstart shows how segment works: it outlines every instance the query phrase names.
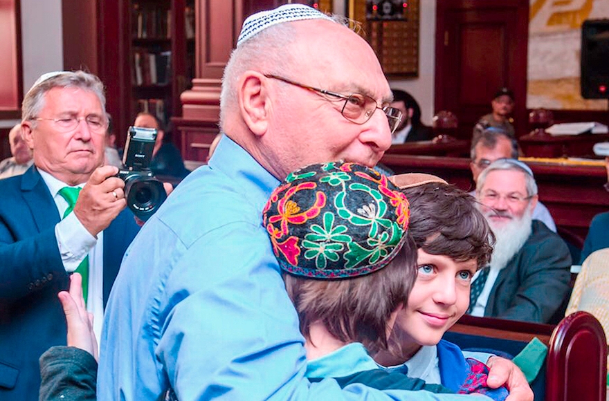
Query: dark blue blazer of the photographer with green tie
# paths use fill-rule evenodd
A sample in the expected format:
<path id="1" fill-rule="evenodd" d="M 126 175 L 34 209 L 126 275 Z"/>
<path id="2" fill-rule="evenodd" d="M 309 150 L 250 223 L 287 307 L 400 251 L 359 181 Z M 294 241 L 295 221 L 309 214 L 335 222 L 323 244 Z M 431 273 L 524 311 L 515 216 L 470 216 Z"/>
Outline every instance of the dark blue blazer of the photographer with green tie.
<path id="1" fill-rule="evenodd" d="M 38 400 L 38 358 L 66 344 L 57 292 L 69 287 L 55 239 L 60 214 L 37 169 L 0 180 L 0 401 Z M 123 210 L 104 230 L 104 305 L 139 230 Z"/>

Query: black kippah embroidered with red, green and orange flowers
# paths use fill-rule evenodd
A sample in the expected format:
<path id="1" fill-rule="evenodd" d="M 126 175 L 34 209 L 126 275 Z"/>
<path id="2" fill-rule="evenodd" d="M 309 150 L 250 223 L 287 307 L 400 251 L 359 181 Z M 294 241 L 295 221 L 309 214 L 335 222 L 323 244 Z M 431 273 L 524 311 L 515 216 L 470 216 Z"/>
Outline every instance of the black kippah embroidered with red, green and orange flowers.
<path id="1" fill-rule="evenodd" d="M 263 223 L 283 270 L 340 279 L 387 265 L 406 239 L 409 214 L 387 177 L 329 162 L 289 174 L 266 203 Z"/>

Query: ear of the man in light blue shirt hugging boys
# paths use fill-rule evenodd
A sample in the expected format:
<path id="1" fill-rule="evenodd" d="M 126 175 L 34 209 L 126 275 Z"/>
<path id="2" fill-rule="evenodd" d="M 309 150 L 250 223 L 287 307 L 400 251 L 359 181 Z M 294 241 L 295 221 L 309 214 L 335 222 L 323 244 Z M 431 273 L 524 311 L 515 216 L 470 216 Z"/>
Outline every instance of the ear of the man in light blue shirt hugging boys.
<path id="1" fill-rule="evenodd" d="M 266 77 L 257 71 L 246 71 L 239 80 L 239 112 L 254 135 L 262 136 L 269 127 L 269 92 Z"/>

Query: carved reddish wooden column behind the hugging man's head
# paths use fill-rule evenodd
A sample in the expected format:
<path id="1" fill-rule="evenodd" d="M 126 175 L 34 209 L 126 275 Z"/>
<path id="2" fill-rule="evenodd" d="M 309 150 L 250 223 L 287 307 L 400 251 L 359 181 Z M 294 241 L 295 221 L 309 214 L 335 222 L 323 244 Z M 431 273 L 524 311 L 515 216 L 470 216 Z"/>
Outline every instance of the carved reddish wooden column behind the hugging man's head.
<path id="1" fill-rule="evenodd" d="M 220 86 L 224 66 L 244 19 L 258 10 L 278 6 L 278 0 L 196 0 L 196 78 L 181 94 L 182 116 L 172 118 L 174 140 L 185 160 L 204 161 L 219 132 Z"/>

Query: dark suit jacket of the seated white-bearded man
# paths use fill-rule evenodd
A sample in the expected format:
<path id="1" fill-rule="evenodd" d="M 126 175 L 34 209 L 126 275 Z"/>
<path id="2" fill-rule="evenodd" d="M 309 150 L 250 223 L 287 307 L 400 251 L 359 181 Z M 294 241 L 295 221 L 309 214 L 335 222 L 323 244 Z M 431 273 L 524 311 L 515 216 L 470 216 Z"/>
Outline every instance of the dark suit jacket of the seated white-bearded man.
<path id="1" fill-rule="evenodd" d="M 571 255 L 558 234 L 540 221 L 493 285 L 484 316 L 550 323 L 565 308 Z"/>

